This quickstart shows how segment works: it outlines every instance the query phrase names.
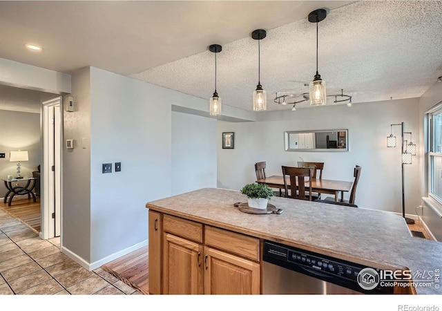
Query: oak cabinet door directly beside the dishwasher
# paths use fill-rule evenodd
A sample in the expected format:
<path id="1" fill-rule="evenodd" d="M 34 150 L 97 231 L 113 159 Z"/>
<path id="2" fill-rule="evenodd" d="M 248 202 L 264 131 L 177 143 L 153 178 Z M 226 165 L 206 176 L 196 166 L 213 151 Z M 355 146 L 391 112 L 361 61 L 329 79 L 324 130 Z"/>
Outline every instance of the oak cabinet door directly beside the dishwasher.
<path id="1" fill-rule="evenodd" d="M 204 294 L 260 294 L 260 265 L 204 248 Z"/>

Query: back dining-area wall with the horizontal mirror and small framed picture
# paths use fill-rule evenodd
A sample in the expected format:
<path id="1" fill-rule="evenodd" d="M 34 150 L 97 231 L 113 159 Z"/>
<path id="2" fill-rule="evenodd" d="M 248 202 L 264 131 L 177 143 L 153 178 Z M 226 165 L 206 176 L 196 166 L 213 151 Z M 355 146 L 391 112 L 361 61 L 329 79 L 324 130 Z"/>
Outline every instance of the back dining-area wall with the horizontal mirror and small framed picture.
<path id="1" fill-rule="evenodd" d="M 353 168 L 362 167 L 356 191 L 359 207 L 402 212 L 401 149 L 387 148 L 390 124 L 405 122 L 405 131 L 419 133 L 417 99 L 323 106 L 297 111 L 260 113 L 258 122 L 218 122 L 218 187 L 239 190 L 256 180 L 254 164 L 267 161 L 267 176 L 281 175 L 281 166 L 297 166 L 302 157 L 325 162 L 324 179 L 353 181 Z M 348 129 L 348 152 L 285 151 L 284 132 Z M 222 132 L 235 132 L 235 149 L 222 149 Z M 394 126 L 401 141 L 401 126 Z M 419 136 L 414 143 L 421 144 Z M 416 214 L 420 205 L 418 153 L 415 164 L 405 165 L 405 211 Z M 348 198 L 349 194 L 345 195 Z"/>

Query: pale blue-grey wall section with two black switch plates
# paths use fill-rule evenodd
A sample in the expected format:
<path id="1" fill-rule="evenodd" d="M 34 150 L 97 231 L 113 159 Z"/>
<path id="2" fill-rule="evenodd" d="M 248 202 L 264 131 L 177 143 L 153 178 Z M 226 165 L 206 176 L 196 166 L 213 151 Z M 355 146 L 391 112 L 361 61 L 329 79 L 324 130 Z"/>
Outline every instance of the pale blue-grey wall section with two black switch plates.
<path id="1" fill-rule="evenodd" d="M 171 194 L 175 92 L 91 68 L 91 263 L 147 242 L 146 202 Z M 122 171 L 115 172 L 115 162 Z M 113 173 L 102 173 L 113 163 Z"/>

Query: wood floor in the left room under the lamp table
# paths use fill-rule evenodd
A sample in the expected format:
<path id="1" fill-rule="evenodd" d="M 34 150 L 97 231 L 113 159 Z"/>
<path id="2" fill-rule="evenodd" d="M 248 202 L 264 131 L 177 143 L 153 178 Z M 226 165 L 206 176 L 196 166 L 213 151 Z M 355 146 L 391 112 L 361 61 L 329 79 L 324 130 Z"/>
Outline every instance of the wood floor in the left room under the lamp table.
<path id="1" fill-rule="evenodd" d="M 41 207 L 40 198 L 37 197 L 36 202 L 32 199 L 12 200 L 11 206 L 8 203 L 0 202 L 0 208 L 10 216 L 24 223 L 37 234 L 41 230 Z"/>

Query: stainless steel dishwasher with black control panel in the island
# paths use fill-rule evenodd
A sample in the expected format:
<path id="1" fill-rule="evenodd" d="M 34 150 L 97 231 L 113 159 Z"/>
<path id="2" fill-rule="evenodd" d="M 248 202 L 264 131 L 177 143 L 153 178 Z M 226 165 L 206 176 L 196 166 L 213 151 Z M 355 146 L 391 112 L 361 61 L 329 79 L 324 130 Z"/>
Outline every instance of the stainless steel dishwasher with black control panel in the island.
<path id="1" fill-rule="evenodd" d="M 358 275 L 365 266 L 265 241 L 263 294 L 392 294 L 393 288 L 364 290 Z"/>

